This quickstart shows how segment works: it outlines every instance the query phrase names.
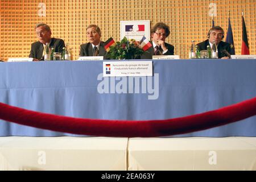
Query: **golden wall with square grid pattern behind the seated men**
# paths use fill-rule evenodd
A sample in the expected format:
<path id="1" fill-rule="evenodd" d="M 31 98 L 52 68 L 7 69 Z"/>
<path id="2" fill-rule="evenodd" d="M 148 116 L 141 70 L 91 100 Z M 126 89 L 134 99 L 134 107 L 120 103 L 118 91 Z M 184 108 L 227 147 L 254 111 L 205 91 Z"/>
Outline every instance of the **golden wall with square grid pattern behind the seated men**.
<path id="1" fill-rule="evenodd" d="M 255 0 L 1 0 L 0 60 L 27 57 L 31 43 L 37 40 L 34 27 L 40 22 L 49 24 L 52 36 L 64 39 L 77 59 L 80 44 L 86 43 L 86 26 L 97 24 L 102 31 L 102 40 L 112 36 L 119 41 L 120 20 L 150 20 L 151 27 L 156 22 L 167 23 L 171 29 L 167 42 L 175 46 L 175 55 L 187 59 L 191 40 L 199 43 L 207 39 L 212 19 L 215 25 L 224 28 L 226 34 L 229 16 L 236 54 L 241 54 L 242 9 L 250 54 L 255 55 Z M 224 41 L 225 38 L 226 35 Z"/>

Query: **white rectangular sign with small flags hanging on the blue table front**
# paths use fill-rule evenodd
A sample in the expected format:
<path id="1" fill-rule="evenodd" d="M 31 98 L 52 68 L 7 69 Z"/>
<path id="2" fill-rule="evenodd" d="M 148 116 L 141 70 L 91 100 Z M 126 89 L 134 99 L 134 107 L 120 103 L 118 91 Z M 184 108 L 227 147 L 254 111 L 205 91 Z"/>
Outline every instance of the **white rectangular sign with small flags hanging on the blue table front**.
<path id="1" fill-rule="evenodd" d="M 152 61 L 104 61 L 103 76 L 152 76 Z"/>

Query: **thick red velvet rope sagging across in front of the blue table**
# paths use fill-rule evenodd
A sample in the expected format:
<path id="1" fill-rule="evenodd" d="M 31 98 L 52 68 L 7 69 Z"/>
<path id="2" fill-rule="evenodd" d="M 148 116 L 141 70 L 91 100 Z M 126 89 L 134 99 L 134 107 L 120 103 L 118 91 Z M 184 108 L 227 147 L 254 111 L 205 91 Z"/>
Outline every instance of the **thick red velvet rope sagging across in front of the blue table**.
<path id="1" fill-rule="evenodd" d="M 253 115 L 256 115 L 256 97 L 201 114 L 150 121 L 64 117 L 21 109 L 0 102 L 0 119 L 5 121 L 40 129 L 99 137 L 160 137 L 184 134 L 226 125 Z"/>

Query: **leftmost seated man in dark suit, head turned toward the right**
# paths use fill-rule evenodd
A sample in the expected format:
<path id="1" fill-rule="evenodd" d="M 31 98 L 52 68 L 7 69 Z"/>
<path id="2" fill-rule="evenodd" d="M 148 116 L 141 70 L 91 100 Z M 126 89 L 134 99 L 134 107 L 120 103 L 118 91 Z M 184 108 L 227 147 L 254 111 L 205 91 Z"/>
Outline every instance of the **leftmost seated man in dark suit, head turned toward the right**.
<path id="1" fill-rule="evenodd" d="M 36 35 L 39 41 L 31 44 L 31 51 L 28 57 L 33 57 L 33 61 L 44 60 L 44 49 L 46 43 L 49 43 L 49 48 L 54 48 L 55 52 L 62 52 L 65 43 L 62 39 L 51 38 L 52 32 L 50 27 L 45 23 L 39 23 L 35 27 Z"/>

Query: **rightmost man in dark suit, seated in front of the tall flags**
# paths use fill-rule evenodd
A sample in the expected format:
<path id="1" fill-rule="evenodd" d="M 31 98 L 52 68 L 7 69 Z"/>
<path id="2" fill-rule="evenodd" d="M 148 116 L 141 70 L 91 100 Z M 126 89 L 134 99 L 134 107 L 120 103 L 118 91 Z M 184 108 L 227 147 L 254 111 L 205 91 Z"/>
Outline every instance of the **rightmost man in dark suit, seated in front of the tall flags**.
<path id="1" fill-rule="evenodd" d="M 197 44 L 199 51 L 206 50 L 207 46 L 212 47 L 213 41 L 215 41 L 218 49 L 218 58 L 229 59 L 232 54 L 232 49 L 229 43 L 222 41 L 224 38 L 224 30 L 219 26 L 212 27 L 210 28 L 207 36 L 207 40 Z"/>

